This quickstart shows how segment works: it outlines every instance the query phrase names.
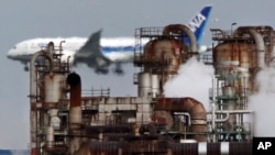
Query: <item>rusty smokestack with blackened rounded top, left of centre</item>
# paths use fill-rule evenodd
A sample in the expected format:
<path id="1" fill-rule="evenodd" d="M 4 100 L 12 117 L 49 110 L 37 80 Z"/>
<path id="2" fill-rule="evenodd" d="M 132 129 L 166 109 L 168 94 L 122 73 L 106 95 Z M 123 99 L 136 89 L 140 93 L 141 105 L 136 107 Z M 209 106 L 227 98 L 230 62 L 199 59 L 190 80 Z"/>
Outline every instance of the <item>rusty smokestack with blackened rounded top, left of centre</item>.
<path id="1" fill-rule="evenodd" d="M 81 79 L 76 73 L 67 77 L 69 89 L 69 152 L 74 154 L 80 147 L 81 124 Z"/>

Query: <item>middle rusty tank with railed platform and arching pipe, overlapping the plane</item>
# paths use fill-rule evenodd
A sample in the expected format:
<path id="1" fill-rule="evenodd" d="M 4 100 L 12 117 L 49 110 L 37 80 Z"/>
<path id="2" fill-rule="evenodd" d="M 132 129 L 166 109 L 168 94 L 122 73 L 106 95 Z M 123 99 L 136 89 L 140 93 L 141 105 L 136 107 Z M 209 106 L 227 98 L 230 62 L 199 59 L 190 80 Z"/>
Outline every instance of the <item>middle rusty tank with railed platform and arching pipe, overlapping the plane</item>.
<path id="1" fill-rule="evenodd" d="M 135 31 L 135 37 L 134 65 L 142 70 L 135 75 L 140 97 L 150 93 L 153 97 L 163 96 L 163 86 L 167 79 L 176 76 L 179 66 L 198 54 L 196 36 L 186 25 L 142 27 Z M 190 45 L 184 42 L 185 38 L 190 41 Z"/>

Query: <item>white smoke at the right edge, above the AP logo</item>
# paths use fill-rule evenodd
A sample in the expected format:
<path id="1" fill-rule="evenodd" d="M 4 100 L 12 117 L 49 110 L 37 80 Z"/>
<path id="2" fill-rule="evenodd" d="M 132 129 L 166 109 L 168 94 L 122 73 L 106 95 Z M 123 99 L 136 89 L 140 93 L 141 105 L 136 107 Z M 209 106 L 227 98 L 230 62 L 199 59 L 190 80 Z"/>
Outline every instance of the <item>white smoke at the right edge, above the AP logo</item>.
<path id="1" fill-rule="evenodd" d="M 264 68 L 256 76 L 257 93 L 249 98 L 254 111 L 254 136 L 275 136 L 275 69 Z"/>

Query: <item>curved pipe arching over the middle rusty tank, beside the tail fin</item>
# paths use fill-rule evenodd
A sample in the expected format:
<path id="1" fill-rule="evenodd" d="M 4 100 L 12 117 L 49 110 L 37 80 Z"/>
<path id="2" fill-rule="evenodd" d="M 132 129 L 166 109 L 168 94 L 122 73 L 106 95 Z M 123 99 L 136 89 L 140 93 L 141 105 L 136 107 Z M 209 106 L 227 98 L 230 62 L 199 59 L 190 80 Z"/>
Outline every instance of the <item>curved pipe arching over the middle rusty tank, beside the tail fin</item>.
<path id="1" fill-rule="evenodd" d="M 190 52 L 197 53 L 198 49 L 197 49 L 196 36 L 195 36 L 194 32 L 188 26 L 183 25 L 183 24 L 170 24 L 170 25 L 167 25 L 164 27 L 163 34 L 169 35 L 169 32 L 173 32 L 175 30 L 182 30 L 187 34 L 188 38 L 190 40 Z"/>

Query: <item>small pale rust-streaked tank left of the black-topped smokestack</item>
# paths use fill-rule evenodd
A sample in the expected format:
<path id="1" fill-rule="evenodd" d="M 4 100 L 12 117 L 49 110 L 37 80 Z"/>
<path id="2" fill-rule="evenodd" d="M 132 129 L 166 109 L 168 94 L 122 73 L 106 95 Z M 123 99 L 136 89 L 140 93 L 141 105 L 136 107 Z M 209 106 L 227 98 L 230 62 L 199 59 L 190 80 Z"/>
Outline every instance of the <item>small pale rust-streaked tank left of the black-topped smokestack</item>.
<path id="1" fill-rule="evenodd" d="M 64 82 L 64 75 L 48 74 L 45 76 L 45 102 L 58 102 L 58 100 L 64 96 L 62 90 Z"/>

